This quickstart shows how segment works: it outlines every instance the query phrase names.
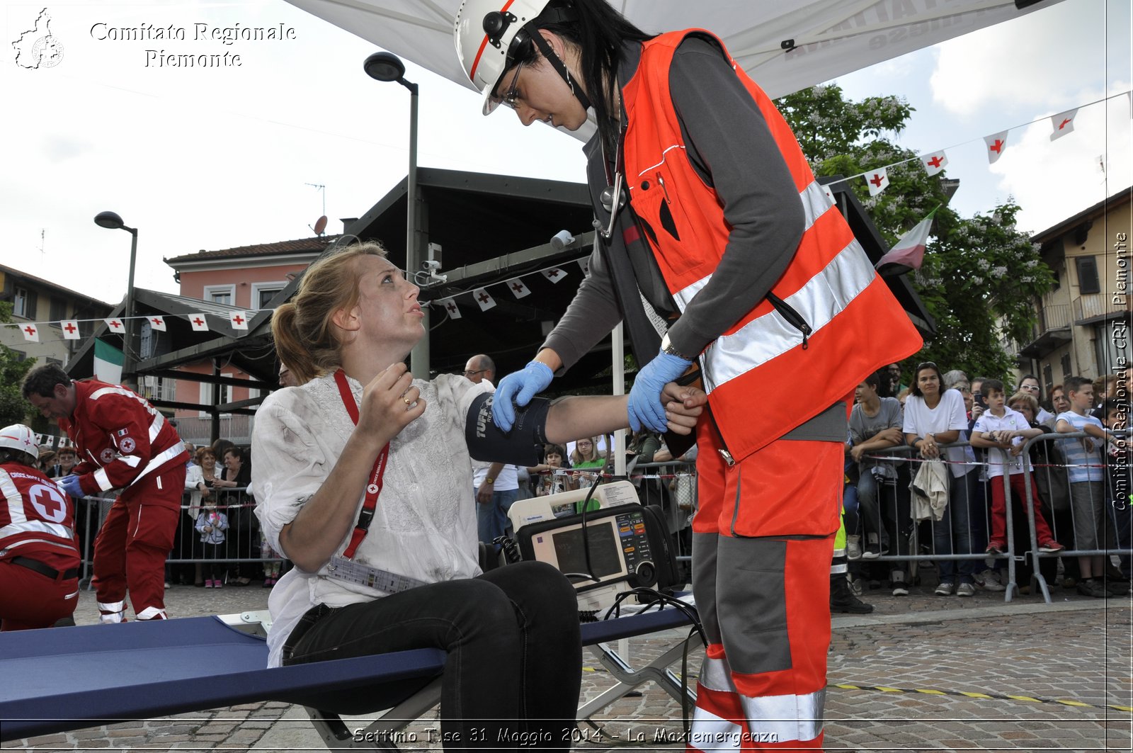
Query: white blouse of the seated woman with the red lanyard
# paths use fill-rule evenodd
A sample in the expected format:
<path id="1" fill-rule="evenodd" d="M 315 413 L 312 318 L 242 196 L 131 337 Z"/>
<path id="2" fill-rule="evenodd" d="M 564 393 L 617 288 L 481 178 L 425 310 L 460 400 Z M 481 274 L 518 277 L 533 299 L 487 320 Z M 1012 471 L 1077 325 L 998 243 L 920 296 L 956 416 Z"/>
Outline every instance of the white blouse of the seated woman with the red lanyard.
<path id="1" fill-rule="evenodd" d="M 353 379 L 349 383 L 360 405 L 363 384 Z M 414 386 L 427 403 L 425 413 L 390 442 L 377 509 L 353 561 L 427 583 L 475 577 L 480 569 L 465 422 L 472 400 L 491 391 L 491 384 L 441 374 L 431 382 L 414 380 Z M 256 516 L 276 550 L 282 551 L 280 531 L 322 487 L 352 431 L 333 374 L 273 392 L 256 412 L 252 487 Z M 359 510 L 361 502 L 359 497 Z M 327 577 L 325 566 L 318 573 L 290 570 L 269 599 L 269 666 L 280 666 L 287 636 L 312 607 L 343 607 L 383 595 Z"/>

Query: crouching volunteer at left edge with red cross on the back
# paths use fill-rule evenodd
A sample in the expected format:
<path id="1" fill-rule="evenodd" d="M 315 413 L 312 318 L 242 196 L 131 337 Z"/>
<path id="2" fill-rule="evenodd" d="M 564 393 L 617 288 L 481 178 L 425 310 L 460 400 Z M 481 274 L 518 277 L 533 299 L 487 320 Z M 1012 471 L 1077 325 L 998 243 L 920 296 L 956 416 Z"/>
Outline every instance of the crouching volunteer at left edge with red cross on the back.
<path id="1" fill-rule="evenodd" d="M 78 603 L 75 505 L 37 454 L 31 429 L 0 429 L 0 631 L 51 627 Z"/>

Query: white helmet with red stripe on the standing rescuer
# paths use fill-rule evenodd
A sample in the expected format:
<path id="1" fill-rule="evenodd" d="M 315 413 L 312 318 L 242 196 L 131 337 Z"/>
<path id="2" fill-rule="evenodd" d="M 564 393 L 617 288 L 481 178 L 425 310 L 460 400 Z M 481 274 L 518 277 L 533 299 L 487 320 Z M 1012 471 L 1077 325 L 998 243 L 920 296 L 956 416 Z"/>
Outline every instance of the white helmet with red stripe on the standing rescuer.
<path id="1" fill-rule="evenodd" d="M 472 86 L 484 93 L 484 115 L 500 104 L 492 98 L 508 69 L 511 44 L 550 0 L 462 0 L 452 34 L 457 57 Z"/>

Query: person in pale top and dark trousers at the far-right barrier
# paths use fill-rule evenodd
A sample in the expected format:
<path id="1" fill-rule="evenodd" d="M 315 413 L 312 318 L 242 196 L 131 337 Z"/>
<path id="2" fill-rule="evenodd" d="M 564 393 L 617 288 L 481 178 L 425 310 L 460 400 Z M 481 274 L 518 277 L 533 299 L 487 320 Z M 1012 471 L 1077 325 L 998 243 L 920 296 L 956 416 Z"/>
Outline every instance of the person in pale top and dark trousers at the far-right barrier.
<path id="1" fill-rule="evenodd" d="M 1063 387 L 1070 399 L 1070 411 L 1058 414 L 1056 431 L 1068 434 L 1084 432 L 1082 439 L 1065 439 L 1063 451 L 1066 455 L 1066 472 L 1070 474 L 1070 501 L 1074 515 L 1074 549 L 1102 549 L 1105 490 L 1101 457 L 1097 442 L 1104 443 L 1109 434 L 1100 421 L 1090 415 L 1093 408 L 1093 383 L 1085 376 L 1071 376 Z M 1094 441 L 1097 440 L 1097 441 Z M 1079 593 L 1096 599 L 1113 595 L 1106 587 L 1105 561 L 1102 555 L 1085 555 L 1077 558 L 1082 570 L 1082 579 L 1077 583 Z"/>

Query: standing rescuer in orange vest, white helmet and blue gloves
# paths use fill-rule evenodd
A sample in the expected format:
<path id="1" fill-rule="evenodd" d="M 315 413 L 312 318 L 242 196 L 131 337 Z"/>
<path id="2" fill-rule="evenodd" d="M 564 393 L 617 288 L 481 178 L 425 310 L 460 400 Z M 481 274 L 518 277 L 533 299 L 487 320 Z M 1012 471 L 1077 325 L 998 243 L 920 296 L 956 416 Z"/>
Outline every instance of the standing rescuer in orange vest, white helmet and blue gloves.
<path id="1" fill-rule="evenodd" d="M 850 396 L 920 348 L 770 99 L 702 29 L 647 34 L 605 0 L 465 0 L 465 73 L 523 122 L 577 130 L 600 243 L 495 422 L 623 322 L 630 424 L 699 366 L 692 590 L 709 638 L 692 750 L 823 744 L 829 567 Z M 876 336 L 871 336 L 876 333 Z M 790 384 L 791 399 L 778 395 Z"/>

